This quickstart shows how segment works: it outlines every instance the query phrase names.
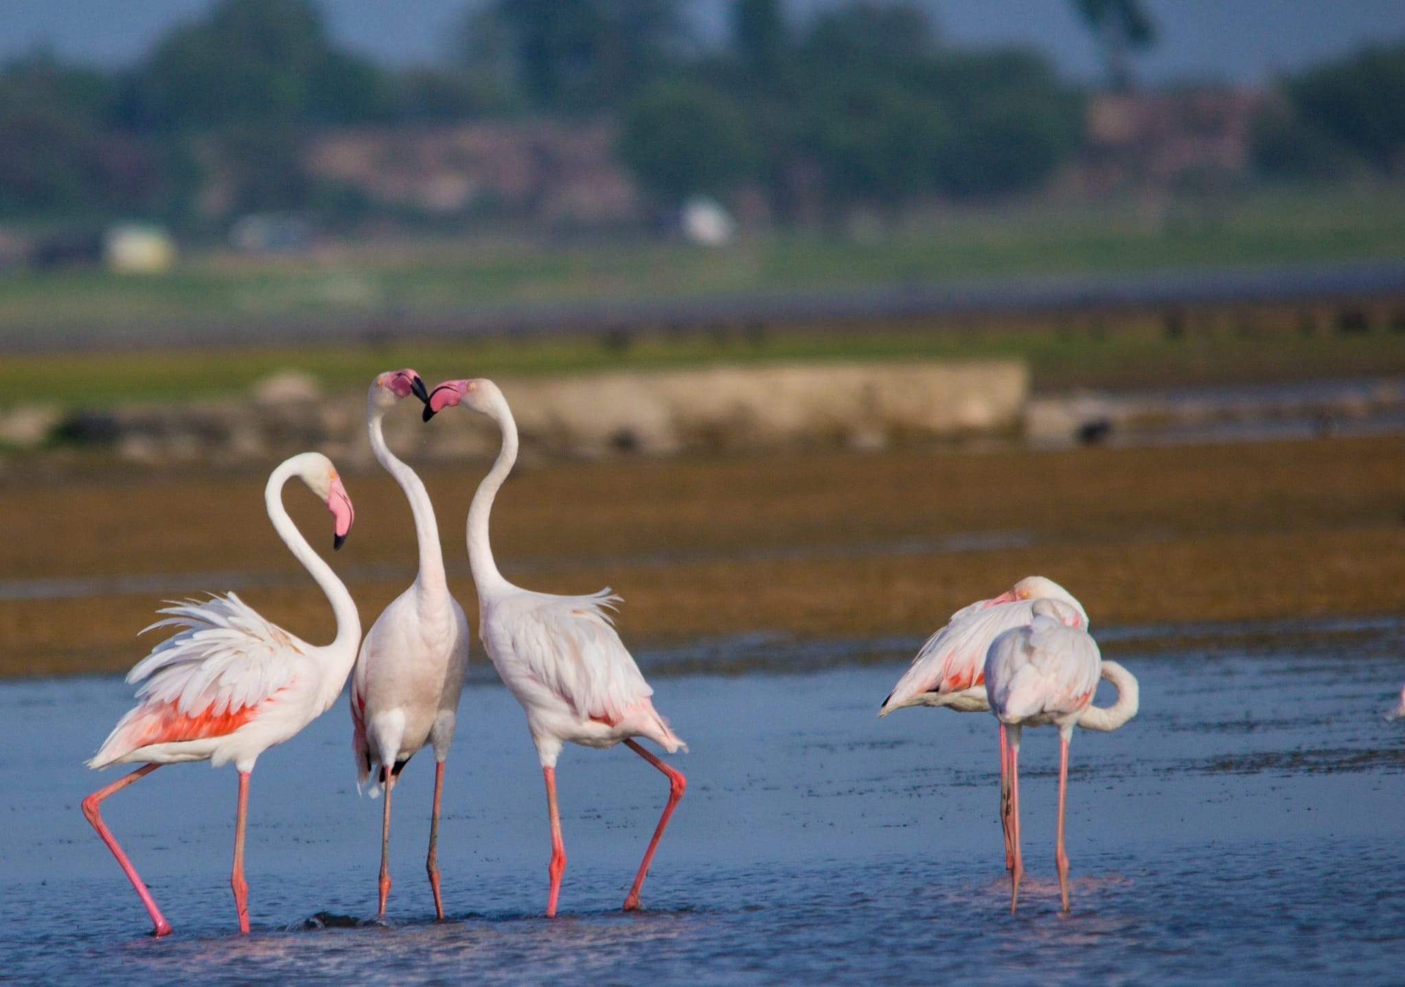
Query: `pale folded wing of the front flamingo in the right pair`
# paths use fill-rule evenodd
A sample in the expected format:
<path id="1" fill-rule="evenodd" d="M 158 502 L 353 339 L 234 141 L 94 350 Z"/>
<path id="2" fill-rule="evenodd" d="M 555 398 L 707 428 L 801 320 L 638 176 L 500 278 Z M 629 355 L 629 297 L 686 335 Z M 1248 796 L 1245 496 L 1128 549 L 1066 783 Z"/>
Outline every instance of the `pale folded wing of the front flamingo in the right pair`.
<path id="1" fill-rule="evenodd" d="M 1087 632 L 1047 618 L 1002 633 L 985 661 L 991 709 L 1007 722 L 1086 709 L 1100 674 L 1097 643 Z"/>

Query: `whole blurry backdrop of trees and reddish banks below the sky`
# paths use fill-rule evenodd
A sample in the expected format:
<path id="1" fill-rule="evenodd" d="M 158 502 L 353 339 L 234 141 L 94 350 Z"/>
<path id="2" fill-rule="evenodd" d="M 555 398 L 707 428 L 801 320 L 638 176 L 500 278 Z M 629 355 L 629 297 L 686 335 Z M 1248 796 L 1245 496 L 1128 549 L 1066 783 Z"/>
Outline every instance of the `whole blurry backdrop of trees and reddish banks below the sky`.
<path id="1" fill-rule="evenodd" d="M 873 237 L 1010 198 L 1155 212 L 1264 181 L 1399 177 L 1405 46 L 1266 91 L 1139 91 L 1141 6 L 1075 6 L 1109 91 L 1030 51 L 948 48 L 902 3 L 791 22 L 776 0 L 736 0 L 726 44 L 702 46 L 681 0 L 492 0 L 465 10 L 452 58 L 389 70 L 339 51 L 311 0 L 222 0 L 122 70 L 42 51 L 0 70 L 0 265 L 80 263 L 117 219 L 200 246 L 273 215 L 235 241 L 288 250 L 653 234 L 708 197 L 743 234 Z"/>

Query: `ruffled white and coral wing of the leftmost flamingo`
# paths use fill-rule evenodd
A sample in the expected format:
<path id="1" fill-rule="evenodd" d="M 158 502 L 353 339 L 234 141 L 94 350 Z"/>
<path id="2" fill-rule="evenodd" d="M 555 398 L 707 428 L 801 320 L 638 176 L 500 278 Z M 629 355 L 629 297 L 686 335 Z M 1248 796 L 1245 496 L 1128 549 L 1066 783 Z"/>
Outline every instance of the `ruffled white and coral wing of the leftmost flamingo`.
<path id="1" fill-rule="evenodd" d="M 143 630 L 174 626 L 126 674 L 140 682 L 128 712 L 89 762 L 103 767 L 148 744 L 232 733 L 288 688 L 309 644 L 270 623 L 233 592 L 173 601 Z"/>

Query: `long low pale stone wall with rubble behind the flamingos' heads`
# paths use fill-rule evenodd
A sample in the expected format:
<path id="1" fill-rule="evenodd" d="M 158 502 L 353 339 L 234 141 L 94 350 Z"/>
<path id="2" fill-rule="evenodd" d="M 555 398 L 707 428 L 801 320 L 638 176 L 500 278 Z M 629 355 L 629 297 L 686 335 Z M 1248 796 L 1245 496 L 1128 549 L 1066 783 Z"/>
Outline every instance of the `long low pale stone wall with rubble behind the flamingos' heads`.
<path id="1" fill-rule="evenodd" d="M 881 448 L 912 438 L 1013 431 L 1028 395 L 1020 361 L 707 366 L 497 383 L 513 407 L 524 452 L 549 456 Z M 392 446 L 431 458 L 490 455 L 499 445 L 496 425 L 465 411 L 450 410 L 426 427 L 410 409 L 398 409 L 385 427 Z M 110 445 L 149 462 L 251 459 L 308 448 L 357 463 L 371 459 L 364 392 L 323 395 L 299 375 L 261 382 L 243 400 L 84 416 L 55 409 L 0 414 L 3 444 L 37 445 L 56 437 Z"/>

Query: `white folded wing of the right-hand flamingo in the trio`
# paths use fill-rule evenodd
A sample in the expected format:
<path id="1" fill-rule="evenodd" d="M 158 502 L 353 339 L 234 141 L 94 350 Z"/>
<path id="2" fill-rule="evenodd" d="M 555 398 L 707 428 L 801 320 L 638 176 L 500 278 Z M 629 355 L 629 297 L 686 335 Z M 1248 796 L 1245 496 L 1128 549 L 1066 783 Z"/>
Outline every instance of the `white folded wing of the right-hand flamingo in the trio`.
<path id="1" fill-rule="evenodd" d="M 653 689 L 614 629 L 610 590 L 584 597 L 523 591 L 502 601 L 513 660 L 582 719 L 620 723 Z"/>

